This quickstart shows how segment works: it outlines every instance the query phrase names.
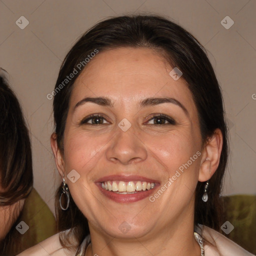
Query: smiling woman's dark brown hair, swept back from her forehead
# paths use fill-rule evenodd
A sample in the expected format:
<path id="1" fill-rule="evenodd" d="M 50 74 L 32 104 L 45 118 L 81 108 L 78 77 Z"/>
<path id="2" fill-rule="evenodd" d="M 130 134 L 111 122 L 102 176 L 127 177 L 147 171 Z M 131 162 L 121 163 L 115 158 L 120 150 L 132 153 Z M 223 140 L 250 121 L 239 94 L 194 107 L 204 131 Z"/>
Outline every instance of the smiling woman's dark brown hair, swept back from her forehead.
<path id="1" fill-rule="evenodd" d="M 205 49 L 189 32 L 174 22 L 156 15 L 119 16 L 101 21 L 86 31 L 67 53 L 61 65 L 55 89 L 63 82 L 66 75 L 70 74 L 95 49 L 100 52 L 126 46 L 155 49 L 172 67 L 178 67 L 182 71 L 182 77 L 192 93 L 198 111 L 202 145 L 213 135 L 216 128 L 221 130 L 223 146 L 218 168 L 209 180 L 209 199 L 207 202 L 201 200 L 204 182 L 198 182 L 194 210 L 194 224 L 200 223 L 219 230 L 222 216 L 219 194 L 228 155 L 228 134 L 221 89 L 214 70 Z M 61 150 L 64 150 L 62 139 L 70 93 L 75 79 L 84 66 L 54 96 L 55 132 L 57 144 Z M 89 233 L 87 220 L 72 199 L 68 210 L 62 212 L 58 203 L 59 195 L 60 188 L 56 195 L 58 231 L 71 228 L 70 233 L 74 235 L 79 244 Z M 67 247 L 67 233 L 65 237 L 60 237 L 60 241 L 63 246 Z"/>

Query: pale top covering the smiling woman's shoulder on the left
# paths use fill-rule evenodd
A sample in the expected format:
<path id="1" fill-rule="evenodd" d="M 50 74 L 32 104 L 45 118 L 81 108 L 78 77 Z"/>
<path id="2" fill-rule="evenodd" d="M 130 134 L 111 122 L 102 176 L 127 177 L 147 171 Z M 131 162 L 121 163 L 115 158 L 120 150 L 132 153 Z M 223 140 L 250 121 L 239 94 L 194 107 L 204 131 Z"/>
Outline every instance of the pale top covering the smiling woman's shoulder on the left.
<path id="1" fill-rule="evenodd" d="M 63 248 L 59 241 L 59 233 L 56 233 L 17 256 L 73 256 L 75 251 Z"/>

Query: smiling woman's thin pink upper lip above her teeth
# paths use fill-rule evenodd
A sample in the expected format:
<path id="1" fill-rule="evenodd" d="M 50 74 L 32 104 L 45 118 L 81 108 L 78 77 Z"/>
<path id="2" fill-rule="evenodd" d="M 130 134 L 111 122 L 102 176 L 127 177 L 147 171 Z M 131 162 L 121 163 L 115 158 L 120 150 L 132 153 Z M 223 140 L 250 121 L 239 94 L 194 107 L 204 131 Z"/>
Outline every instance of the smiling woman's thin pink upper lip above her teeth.
<path id="1" fill-rule="evenodd" d="M 103 181 L 146 181 L 150 183 L 158 183 L 158 180 L 139 176 L 139 175 L 131 175 L 131 174 L 113 174 L 113 175 L 107 175 L 103 176 L 99 179 L 97 179 L 95 182 L 103 182 Z"/>

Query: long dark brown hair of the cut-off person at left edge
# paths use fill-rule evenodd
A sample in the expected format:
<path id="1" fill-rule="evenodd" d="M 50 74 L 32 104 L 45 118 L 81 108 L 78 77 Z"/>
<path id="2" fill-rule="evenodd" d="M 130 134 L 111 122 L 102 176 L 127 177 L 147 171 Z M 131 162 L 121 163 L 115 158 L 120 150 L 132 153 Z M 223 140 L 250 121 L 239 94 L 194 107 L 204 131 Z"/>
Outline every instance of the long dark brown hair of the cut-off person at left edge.
<path id="1" fill-rule="evenodd" d="M 3 69 L 0 70 L 3 73 Z M 4 76 L 0 76 L 0 206 L 17 202 L 28 196 L 33 185 L 32 155 L 28 129 L 20 104 L 8 86 Z M 0 241 L 0 255 L 15 255 L 20 252 L 21 237 L 15 225 L 20 214 L 3 240 Z M 13 217 L 13 216 L 12 216 Z"/>

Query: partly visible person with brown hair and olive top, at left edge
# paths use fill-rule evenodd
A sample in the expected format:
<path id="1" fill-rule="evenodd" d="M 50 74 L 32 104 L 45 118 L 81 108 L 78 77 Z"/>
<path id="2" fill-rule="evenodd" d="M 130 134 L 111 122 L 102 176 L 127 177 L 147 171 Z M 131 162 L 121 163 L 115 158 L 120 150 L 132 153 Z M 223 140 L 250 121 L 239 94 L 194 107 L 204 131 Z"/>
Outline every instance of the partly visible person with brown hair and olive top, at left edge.
<path id="1" fill-rule="evenodd" d="M 28 129 L 0 68 L 0 256 L 16 255 L 56 233 L 55 218 L 32 185 Z"/>

